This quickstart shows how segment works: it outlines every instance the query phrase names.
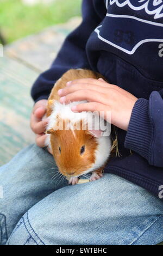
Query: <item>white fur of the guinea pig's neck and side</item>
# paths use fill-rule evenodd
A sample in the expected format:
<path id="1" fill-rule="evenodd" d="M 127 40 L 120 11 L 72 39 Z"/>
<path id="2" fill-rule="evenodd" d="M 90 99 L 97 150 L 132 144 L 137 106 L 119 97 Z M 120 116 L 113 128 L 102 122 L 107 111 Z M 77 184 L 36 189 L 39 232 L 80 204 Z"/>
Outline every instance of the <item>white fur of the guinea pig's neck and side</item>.
<path id="1" fill-rule="evenodd" d="M 78 122 L 79 120 L 85 119 L 85 120 L 87 120 L 87 122 L 89 122 L 89 120 L 92 120 L 93 114 L 91 112 L 75 113 L 71 110 L 72 106 L 78 105 L 79 103 L 84 103 L 84 102 L 86 102 L 86 101 L 76 101 L 76 102 L 71 102 L 71 103 L 65 105 L 65 104 L 61 104 L 59 101 L 54 101 L 53 106 L 52 106 L 52 113 L 49 116 L 49 123 L 47 125 L 47 130 L 53 129 L 53 127 L 56 124 L 58 115 L 63 120 L 65 120 L 67 118 L 70 120 L 70 129 L 71 129 L 71 124 L 73 125 L 74 123 Z M 98 126 L 102 127 L 101 125 L 104 124 L 105 120 L 102 117 L 99 117 L 99 122 L 100 122 L 100 126 L 99 126 L 99 124 L 98 124 Z M 110 124 L 108 122 L 106 122 L 105 127 L 107 130 L 110 131 Z M 92 170 L 95 170 L 95 169 L 103 166 L 103 164 L 106 162 L 106 160 L 108 160 L 108 157 L 109 157 L 110 151 L 111 151 L 110 136 L 97 137 L 97 141 L 98 141 L 98 146 L 97 146 L 96 153 L 95 153 L 96 161 L 92 165 L 92 167 L 87 169 L 85 172 L 83 172 L 83 174 L 89 173 Z M 49 148 L 51 148 L 49 134 L 47 135 L 46 145 Z"/>

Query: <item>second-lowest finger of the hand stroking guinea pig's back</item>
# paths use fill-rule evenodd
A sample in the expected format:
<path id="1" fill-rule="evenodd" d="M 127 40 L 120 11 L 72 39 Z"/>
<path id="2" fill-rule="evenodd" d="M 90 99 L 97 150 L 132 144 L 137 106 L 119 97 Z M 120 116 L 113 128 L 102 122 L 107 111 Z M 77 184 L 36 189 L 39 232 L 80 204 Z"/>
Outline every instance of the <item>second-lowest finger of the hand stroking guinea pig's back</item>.
<path id="1" fill-rule="evenodd" d="M 94 90 L 78 90 L 60 98 L 61 103 L 70 103 L 73 101 L 96 101 L 100 103 L 106 102 L 106 96 L 103 93 L 96 92 Z"/>

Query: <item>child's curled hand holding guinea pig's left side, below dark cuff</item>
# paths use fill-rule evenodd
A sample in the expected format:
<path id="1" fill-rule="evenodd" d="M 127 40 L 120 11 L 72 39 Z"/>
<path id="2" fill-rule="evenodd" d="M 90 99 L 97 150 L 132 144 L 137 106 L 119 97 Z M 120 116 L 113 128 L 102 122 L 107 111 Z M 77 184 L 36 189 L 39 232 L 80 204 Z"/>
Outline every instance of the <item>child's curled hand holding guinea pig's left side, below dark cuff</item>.
<path id="1" fill-rule="evenodd" d="M 39 100 L 35 103 L 30 117 L 30 127 L 36 134 L 36 144 L 40 148 L 45 147 L 47 119 L 42 120 L 43 115 L 46 113 L 47 100 Z"/>

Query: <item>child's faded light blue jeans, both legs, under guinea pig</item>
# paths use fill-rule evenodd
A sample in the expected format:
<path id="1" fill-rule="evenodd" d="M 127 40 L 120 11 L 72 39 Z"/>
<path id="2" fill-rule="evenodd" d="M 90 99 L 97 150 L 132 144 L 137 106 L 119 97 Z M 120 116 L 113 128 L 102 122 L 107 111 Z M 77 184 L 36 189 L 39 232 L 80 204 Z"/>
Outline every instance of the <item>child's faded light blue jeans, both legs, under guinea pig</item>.
<path id="1" fill-rule="evenodd" d="M 163 241 L 160 199 L 113 174 L 71 186 L 57 174 L 53 177 L 54 166 L 53 157 L 33 144 L 0 168 L 0 243 L 155 245 Z"/>

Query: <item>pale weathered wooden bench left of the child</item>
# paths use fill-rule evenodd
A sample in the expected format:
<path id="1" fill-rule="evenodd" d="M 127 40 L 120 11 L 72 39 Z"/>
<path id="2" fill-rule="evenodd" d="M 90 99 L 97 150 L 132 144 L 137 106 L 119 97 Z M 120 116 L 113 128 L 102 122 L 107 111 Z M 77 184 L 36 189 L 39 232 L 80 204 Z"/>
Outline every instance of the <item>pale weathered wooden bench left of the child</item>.
<path id="1" fill-rule="evenodd" d="M 34 142 L 29 127 L 33 107 L 30 88 L 49 68 L 65 36 L 80 21 L 80 17 L 74 17 L 4 47 L 4 57 L 0 57 L 0 166 Z"/>

